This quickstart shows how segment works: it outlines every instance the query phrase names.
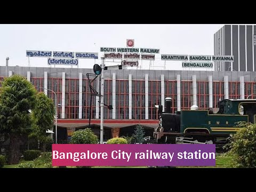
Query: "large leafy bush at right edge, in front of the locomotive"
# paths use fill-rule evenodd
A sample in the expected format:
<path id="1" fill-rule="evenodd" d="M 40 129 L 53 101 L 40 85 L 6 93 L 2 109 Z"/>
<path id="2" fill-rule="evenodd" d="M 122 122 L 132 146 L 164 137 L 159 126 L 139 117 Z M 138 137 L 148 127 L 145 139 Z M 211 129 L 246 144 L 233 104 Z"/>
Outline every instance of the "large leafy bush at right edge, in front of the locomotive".
<path id="1" fill-rule="evenodd" d="M 230 136 L 229 153 L 234 156 L 234 167 L 256 167 L 256 124 L 238 122 L 241 128 Z"/>

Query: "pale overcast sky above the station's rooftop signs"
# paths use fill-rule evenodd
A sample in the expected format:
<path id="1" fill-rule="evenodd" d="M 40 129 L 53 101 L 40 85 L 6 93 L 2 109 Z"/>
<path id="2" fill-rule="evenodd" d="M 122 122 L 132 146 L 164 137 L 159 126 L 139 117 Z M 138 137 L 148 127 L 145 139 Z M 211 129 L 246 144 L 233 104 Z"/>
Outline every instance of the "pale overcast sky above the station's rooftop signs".
<path id="1" fill-rule="evenodd" d="M 99 52 L 100 47 L 126 47 L 134 39 L 135 48 L 160 49 L 151 69 L 163 69 L 161 54 L 213 55 L 213 35 L 223 24 L 202 25 L 0 25 L 0 66 L 28 66 L 26 50 Z M 79 59 L 79 68 L 92 68 L 99 60 Z M 113 63 L 106 63 L 106 66 Z M 166 69 L 183 70 L 181 61 L 166 61 Z M 47 58 L 30 58 L 31 67 L 49 67 Z M 141 63 L 140 63 L 141 66 Z M 58 66 L 63 67 L 63 66 Z M 149 69 L 149 61 L 142 68 Z M 76 68 L 76 67 L 74 67 Z"/>

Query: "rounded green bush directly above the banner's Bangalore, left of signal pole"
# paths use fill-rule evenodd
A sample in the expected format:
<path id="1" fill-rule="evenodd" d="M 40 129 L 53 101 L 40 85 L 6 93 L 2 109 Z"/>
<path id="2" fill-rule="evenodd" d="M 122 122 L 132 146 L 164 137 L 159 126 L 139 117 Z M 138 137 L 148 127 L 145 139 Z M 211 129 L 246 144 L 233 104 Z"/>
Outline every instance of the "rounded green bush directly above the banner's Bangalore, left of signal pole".
<path id="1" fill-rule="evenodd" d="M 97 144 L 98 137 L 90 128 L 75 131 L 70 140 L 71 144 Z"/>

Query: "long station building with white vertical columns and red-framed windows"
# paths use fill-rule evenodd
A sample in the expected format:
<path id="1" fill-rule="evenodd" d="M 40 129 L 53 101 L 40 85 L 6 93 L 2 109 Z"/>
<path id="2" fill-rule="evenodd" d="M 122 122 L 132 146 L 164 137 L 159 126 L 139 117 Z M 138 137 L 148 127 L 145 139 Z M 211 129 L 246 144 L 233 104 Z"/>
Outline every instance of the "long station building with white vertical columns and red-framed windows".
<path id="1" fill-rule="evenodd" d="M 90 90 L 87 73 L 92 69 L 0 66 L 0 86 L 4 77 L 24 76 L 39 92 L 46 89 L 57 94 L 58 139 L 68 138 L 77 129 L 88 127 Z M 217 107 L 222 99 L 256 99 L 254 71 L 186 71 L 186 70 L 105 70 L 104 140 L 131 135 L 138 124 L 153 135 L 158 125 L 155 105 L 165 105 L 172 98 L 171 111 Z M 55 102 L 51 91 L 45 92 Z M 91 127 L 100 134 L 99 97 L 93 97 Z M 165 108 L 164 108 L 165 109 Z"/>

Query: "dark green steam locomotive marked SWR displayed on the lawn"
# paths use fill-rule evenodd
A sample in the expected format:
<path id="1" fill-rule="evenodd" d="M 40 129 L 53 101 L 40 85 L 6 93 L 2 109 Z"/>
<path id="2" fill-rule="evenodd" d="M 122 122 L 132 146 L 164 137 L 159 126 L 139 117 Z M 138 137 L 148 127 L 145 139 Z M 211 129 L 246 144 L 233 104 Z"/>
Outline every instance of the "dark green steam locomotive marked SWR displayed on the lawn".
<path id="1" fill-rule="evenodd" d="M 166 112 L 158 108 L 159 124 L 154 131 L 157 143 L 205 143 L 225 145 L 230 134 L 241 127 L 237 122 L 256 123 L 255 99 L 224 99 L 218 108 L 190 110 L 171 113 L 171 98 L 165 99 Z"/>

